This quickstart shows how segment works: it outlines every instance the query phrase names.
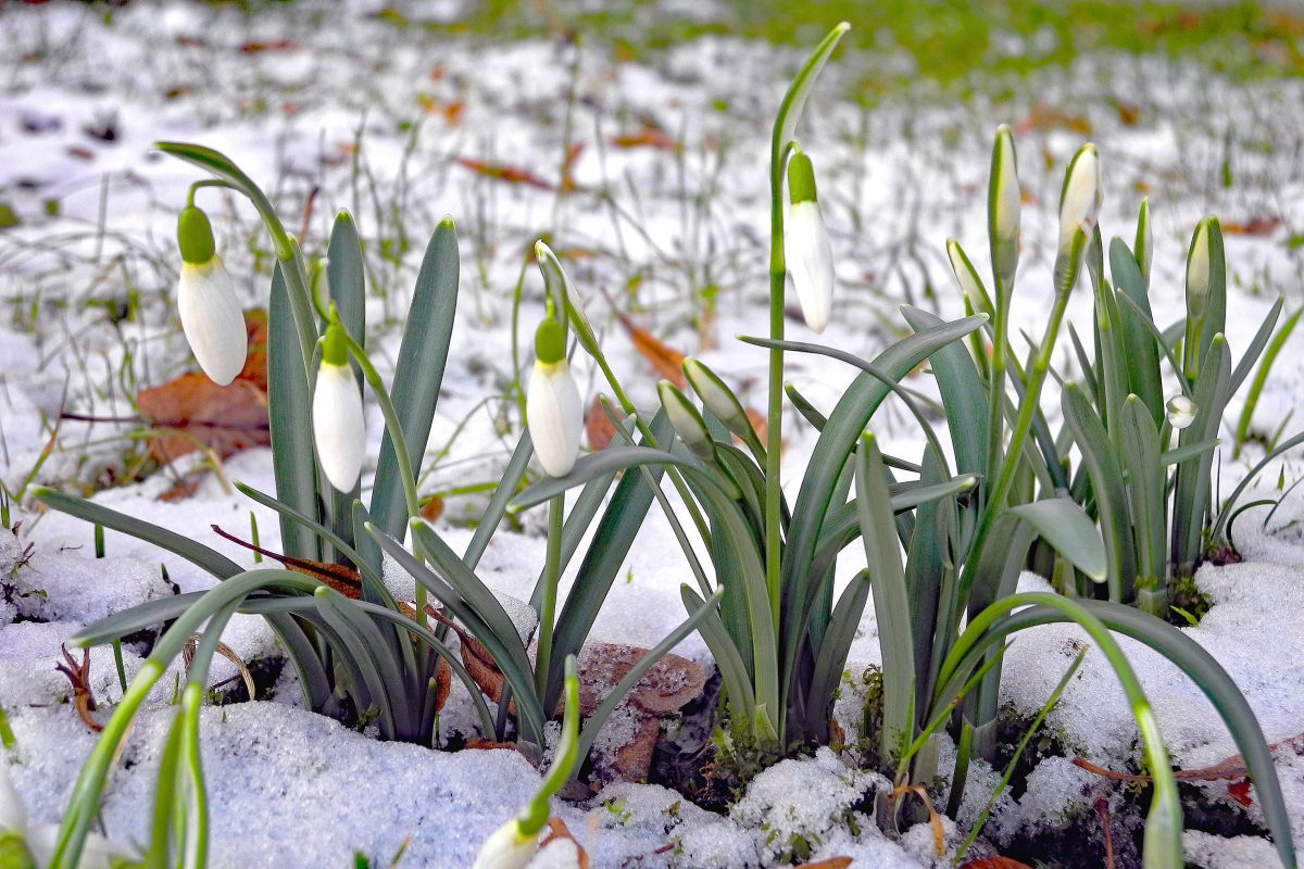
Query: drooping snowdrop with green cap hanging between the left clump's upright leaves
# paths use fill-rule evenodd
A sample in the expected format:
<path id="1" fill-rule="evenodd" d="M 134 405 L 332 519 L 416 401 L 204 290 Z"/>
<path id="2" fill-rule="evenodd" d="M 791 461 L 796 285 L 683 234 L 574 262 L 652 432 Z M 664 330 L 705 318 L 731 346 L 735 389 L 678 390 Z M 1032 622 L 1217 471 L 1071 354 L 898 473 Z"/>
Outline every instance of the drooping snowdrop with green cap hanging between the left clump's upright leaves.
<path id="1" fill-rule="evenodd" d="M 366 425 L 363 395 L 348 363 L 344 327 L 333 322 L 322 341 L 322 363 L 313 390 L 313 442 L 330 485 L 352 491 L 363 473 Z"/>

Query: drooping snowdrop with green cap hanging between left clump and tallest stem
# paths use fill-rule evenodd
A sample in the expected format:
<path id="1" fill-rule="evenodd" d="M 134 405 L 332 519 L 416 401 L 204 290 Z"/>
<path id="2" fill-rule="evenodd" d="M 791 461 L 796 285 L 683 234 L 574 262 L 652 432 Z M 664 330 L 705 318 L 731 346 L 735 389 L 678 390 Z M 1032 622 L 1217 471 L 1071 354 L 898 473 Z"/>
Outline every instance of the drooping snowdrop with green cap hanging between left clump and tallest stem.
<path id="1" fill-rule="evenodd" d="M 526 393 L 526 426 L 549 476 L 565 477 L 575 465 L 583 421 L 579 387 L 566 361 L 566 328 L 549 305 L 548 319 L 535 332 L 535 367 Z"/>

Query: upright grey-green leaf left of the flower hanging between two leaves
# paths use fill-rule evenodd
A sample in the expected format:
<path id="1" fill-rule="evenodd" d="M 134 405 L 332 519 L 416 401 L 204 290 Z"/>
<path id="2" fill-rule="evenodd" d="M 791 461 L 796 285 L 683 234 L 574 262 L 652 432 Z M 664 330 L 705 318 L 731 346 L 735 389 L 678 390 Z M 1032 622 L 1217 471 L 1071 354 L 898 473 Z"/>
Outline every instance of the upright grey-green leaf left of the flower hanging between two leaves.
<path id="1" fill-rule="evenodd" d="M 322 524 L 317 500 L 312 387 L 280 262 L 271 274 L 267 309 L 267 406 L 275 410 L 267 416 L 267 422 L 276 499 Z M 292 558 L 321 560 L 317 535 L 284 513 L 280 515 L 280 548 Z"/>

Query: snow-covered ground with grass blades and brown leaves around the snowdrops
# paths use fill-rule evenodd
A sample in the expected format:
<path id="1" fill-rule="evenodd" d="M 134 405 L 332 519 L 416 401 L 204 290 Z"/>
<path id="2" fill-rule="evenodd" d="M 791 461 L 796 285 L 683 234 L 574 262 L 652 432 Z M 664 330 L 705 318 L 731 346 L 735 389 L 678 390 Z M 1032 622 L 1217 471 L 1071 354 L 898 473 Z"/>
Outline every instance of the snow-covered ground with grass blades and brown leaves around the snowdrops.
<path id="1" fill-rule="evenodd" d="M 130 477 L 138 453 L 132 435 L 140 431 L 132 422 L 65 420 L 44 455 L 61 406 L 100 420 L 133 417 L 138 390 L 192 365 L 171 304 L 172 233 L 185 190 L 200 176 L 153 151 L 158 139 L 196 141 L 236 159 L 296 232 L 303 215 L 310 255 L 323 251 L 334 211 L 353 212 L 368 240 L 369 349 L 382 370 L 396 354 L 393 321 L 406 309 L 425 238 L 439 218 L 452 215 L 462 298 L 428 451 L 434 466 L 422 492 L 494 479 L 514 444 L 519 413 L 514 399 L 503 397 L 514 379 L 512 293 L 522 259 L 541 236 L 571 254 L 567 267 L 636 404 L 655 403 L 656 374 L 612 317 L 612 305 L 669 345 L 699 354 L 739 387 L 745 401 L 763 405 L 765 354 L 733 336 L 767 328 L 769 122 L 801 53 L 704 38 L 643 60 L 617 60 L 566 42 L 496 43 L 396 29 L 373 12 L 366 4 L 299 4 L 244 16 L 231 8 L 133 4 L 113 10 L 112 23 L 81 5 L 0 13 L 0 206 L 10 215 L 0 225 L 16 223 L 0 228 L 7 313 L 0 323 L 0 479 L 9 491 L 29 483 L 95 490 L 96 502 L 193 535 L 241 563 L 248 554 L 207 526 L 246 529 L 253 513 L 262 545 L 279 547 L 275 517 L 223 479 L 270 490 L 265 449 L 233 456 L 223 477 L 206 474 L 193 495 L 167 502 L 159 495 L 200 463 L 192 456 L 171 472 Z M 456 12 L 455 4 L 428 9 L 430 16 Z M 333 26 L 325 26 L 327 17 Z M 1278 293 L 1287 310 L 1304 302 L 1296 235 L 1304 225 L 1297 205 L 1304 201 L 1297 115 L 1304 83 L 1221 82 L 1200 66 L 1111 55 L 1037 73 L 1009 89 L 994 83 L 966 103 L 921 86 L 867 107 L 858 70 L 854 53 L 831 64 L 799 130 L 820 176 L 837 257 L 836 315 L 823 341 L 872 356 L 904 331 L 895 310 L 901 301 L 958 313 L 943 242 L 957 237 L 985 271 L 990 142 L 1003 121 L 1016 129 L 1025 192 L 1016 328 L 1041 331 L 1063 167 L 1088 137 L 1099 145 L 1104 165 L 1106 236 L 1131 240 L 1140 197 L 1150 197 L 1161 324 L 1180 304 L 1187 241 L 1204 214 L 1217 214 L 1228 232 L 1234 356 Z M 570 168 L 572 189 L 559 192 L 571 145 L 583 147 Z M 524 169 L 537 184 L 488 177 L 459 159 Z M 219 251 L 240 280 L 243 301 L 265 304 L 270 255 L 253 210 L 211 190 L 200 202 L 214 218 Z M 522 361 L 542 310 L 532 268 L 524 287 Z M 1071 310 L 1081 330 L 1090 322 L 1086 296 L 1077 293 Z M 810 337 L 797 321 L 789 331 Z M 1299 340 L 1283 352 L 1264 392 L 1258 431 L 1271 433 L 1295 408 L 1304 386 Z M 584 362 L 580 373 L 589 393 L 601 391 Z M 788 375 L 827 408 L 853 371 L 793 356 Z M 914 380 L 931 388 L 927 378 Z M 1237 412 L 1234 403 L 1230 418 Z M 374 404 L 368 414 L 374 456 L 381 417 Z M 794 481 L 812 438 L 795 420 L 790 423 L 785 468 Z M 917 435 L 898 409 L 889 405 L 875 425 L 889 451 L 917 452 Z M 1260 456 L 1253 444 L 1235 461 L 1223 449 L 1224 490 Z M 1297 460 L 1271 466 L 1262 483 L 1271 486 L 1279 473 L 1287 483 L 1296 479 Z M 1239 520 L 1236 542 L 1247 562 L 1202 568 L 1197 580 L 1214 606 L 1188 629 L 1243 687 L 1274 743 L 1304 730 L 1299 499 L 1288 496 L 1270 526 L 1264 509 Z M 439 530 L 454 548 L 468 539 L 466 519 L 482 503 L 447 499 Z M 5 762 L 34 819 L 52 821 L 94 741 L 65 702 L 67 681 L 53 671 L 60 642 L 107 612 L 170 594 L 159 563 L 183 590 L 207 588 L 211 578 L 112 532 L 107 558 L 94 560 L 90 526 L 39 515 L 30 502 L 12 506 L 16 522 L 17 535 L 0 532 L 7 577 L 0 706 L 16 735 Z M 494 538 L 480 572 L 496 590 L 529 597 L 542 560 L 541 524 L 527 513 L 522 532 Z M 595 638 L 649 646 L 682 620 L 678 585 L 687 567 L 674 552 L 670 529 L 653 509 Z M 854 559 L 845 567 L 849 576 Z M 1038 588 L 1041 580 L 1025 576 L 1024 582 Z M 245 659 L 278 654 L 258 619 L 237 616 L 224 640 Z M 1018 714 L 1031 717 L 1046 702 L 1082 641 L 1076 628 L 1058 625 L 1016 641 L 1003 688 Z M 1171 664 L 1123 642 L 1175 761 L 1200 767 L 1234 754 L 1202 694 Z M 696 636 L 677 651 L 708 661 Z M 125 658 L 130 674 L 140 659 L 129 651 Z M 871 606 L 848 670 L 858 675 L 878 659 Z M 96 698 L 113 702 L 119 688 L 107 650 L 91 653 L 91 674 Z M 232 674 L 223 659 L 214 663 L 215 680 Z M 146 830 L 168 719 L 171 677 L 164 683 L 106 793 L 104 825 L 126 842 L 141 842 Z M 408 839 L 400 865 L 468 865 L 484 836 L 537 783 L 515 753 L 450 754 L 378 743 L 296 709 L 292 684 L 280 693 L 275 702 L 205 710 L 214 865 L 344 865 L 355 851 L 385 862 Z M 853 685 L 838 709 L 854 735 Z M 473 731 L 468 710 L 455 691 L 443 726 Z M 1136 727 L 1101 655 L 1086 657 L 1047 727 L 1061 749 L 1094 763 L 1125 769 L 1134 762 Z M 1304 761 L 1286 750 L 1279 773 L 1296 836 L 1304 838 Z M 971 773 L 961 823 L 981 808 L 970 803 L 986 796 L 974 783 L 981 775 Z M 728 816 L 638 784 L 609 786 L 583 805 L 559 803 L 557 813 L 600 866 L 769 864 L 792 856 L 794 836 L 812 846 L 810 859 L 931 865 L 927 825 L 897 842 L 863 817 L 866 793 L 882 784 L 823 749 L 763 774 Z M 1210 801 L 1237 812 L 1227 786 L 1202 787 Z M 1136 806 L 1124 810 L 1116 784 L 1050 756 L 1026 792 L 998 804 L 987 836 L 999 847 L 1084 814 L 1091 818 L 1084 823 L 1095 825 L 1097 796 L 1110 797 L 1124 819 L 1138 817 Z M 1247 814 L 1261 823 L 1256 812 L 1257 800 Z M 962 833 L 948 826 L 948 844 L 960 839 Z M 1275 860 L 1265 839 L 1223 839 L 1194 829 L 1187 849 L 1208 869 Z"/>

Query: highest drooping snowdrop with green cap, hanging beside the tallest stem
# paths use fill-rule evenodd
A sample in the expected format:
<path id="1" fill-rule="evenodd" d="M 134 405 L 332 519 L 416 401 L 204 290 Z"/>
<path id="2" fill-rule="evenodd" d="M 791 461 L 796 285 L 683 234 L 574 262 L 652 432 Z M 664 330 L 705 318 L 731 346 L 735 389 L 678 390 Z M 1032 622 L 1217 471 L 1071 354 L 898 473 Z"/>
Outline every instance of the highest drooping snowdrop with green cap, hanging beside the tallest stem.
<path id="1" fill-rule="evenodd" d="M 811 159 L 801 151 L 788 160 L 788 198 L 784 259 L 806 324 L 823 332 L 833 304 L 833 248 L 815 195 Z"/>

